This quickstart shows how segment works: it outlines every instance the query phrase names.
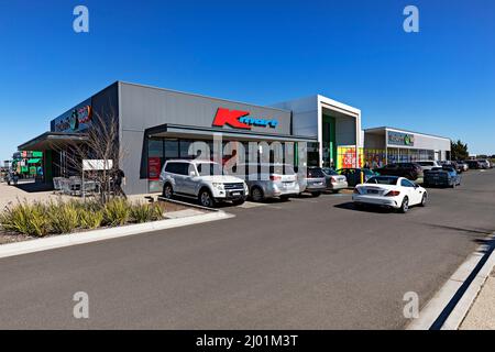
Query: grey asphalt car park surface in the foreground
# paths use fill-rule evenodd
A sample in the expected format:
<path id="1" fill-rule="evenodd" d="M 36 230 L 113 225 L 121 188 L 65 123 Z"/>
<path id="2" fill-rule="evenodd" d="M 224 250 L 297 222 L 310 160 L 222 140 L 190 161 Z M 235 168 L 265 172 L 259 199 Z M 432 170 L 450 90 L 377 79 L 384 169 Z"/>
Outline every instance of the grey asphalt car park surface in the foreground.
<path id="1" fill-rule="evenodd" d="M 495 170 L 407 215 L 351 195 L 250 202 L 235 218 L 0 260 L 0 328 L 402 329 L 495 231 Z M 72 318 L 72 295 L 90 319 Z"/>

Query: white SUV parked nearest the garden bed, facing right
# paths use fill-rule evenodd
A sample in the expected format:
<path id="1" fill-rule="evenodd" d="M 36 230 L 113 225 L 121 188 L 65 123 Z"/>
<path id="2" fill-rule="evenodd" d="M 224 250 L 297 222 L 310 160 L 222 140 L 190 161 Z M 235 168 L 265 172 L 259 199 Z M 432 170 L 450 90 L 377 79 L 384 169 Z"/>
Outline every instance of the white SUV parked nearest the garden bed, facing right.
<path id="1" fill-rule="evenodd" d="M 194 197 L 209 208 L 222 200 L 241 205 L 249 193 L 241 178 L 223 175 L 221 165 L 209 161 L 168 161 L 160 180 L 164 198 L 169 199 L 173 195 Z"/>

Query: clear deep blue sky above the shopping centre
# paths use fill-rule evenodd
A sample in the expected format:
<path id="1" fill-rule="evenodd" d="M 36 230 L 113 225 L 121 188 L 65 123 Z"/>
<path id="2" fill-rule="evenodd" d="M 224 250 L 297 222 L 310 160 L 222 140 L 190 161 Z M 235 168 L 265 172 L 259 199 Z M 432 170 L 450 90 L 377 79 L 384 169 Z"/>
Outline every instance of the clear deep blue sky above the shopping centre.
<path id="1" fill-rule="evenodd" d="M 89 9 L 89 33 L 73 9 Z M 420 32 L 403 31 L 403 9 Z M 495 2 L 0 0 L 0 160 L 116 80 L 260 105 L 322 94 L 363 128 L 495 154 Z"/>

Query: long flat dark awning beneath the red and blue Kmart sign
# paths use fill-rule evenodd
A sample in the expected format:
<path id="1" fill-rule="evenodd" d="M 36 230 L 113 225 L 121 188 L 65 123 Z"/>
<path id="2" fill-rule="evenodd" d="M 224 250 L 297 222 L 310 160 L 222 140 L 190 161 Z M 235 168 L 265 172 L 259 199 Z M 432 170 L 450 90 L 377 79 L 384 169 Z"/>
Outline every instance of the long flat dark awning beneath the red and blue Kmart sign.
<path id="1" fill-rule="evenodd" d="M 195 128 L 177 124 L 162 124 L 146 130 L 148 138 L 190 138 L 211 140 L 215 134 L 220 133 L 224 140 L 234 141 L 279 141 L 279 142 L 316 142 L 309 136 L 298 136 L 289 134 L 260 133 L 251 131 L 222 130 L 210 128 Z"/>

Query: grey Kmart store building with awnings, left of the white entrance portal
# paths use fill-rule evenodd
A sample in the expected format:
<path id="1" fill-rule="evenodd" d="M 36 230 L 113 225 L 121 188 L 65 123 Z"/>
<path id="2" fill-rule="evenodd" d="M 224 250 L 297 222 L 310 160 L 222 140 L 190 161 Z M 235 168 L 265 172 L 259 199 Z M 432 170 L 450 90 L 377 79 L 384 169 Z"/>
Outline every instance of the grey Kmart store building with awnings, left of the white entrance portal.
<path id="1" fill-rule="evenodd" d="M 221 151 L 219 162 L 226 162 L 241 157 L 242 151 L 245 161 L 253 154 L 260 161 L 282 154 L 284 162 L 307 165 L 314 162 L 302 152 L 318 144 L 312 136 L 293 133 L 288 110 L 117 81 L 52 120 L 48 132 L 19 150 L 44 152 L 47 183 L 76 175 L 67 163 L 70 148 L 87 141 L 96 117 L 118 125 L 121 156 L 114 165 L 125 174 L 129 195 L 161 191 L 160 170 L 170 158 L 195 158 L 198 152 L 213 158 Z"/>

